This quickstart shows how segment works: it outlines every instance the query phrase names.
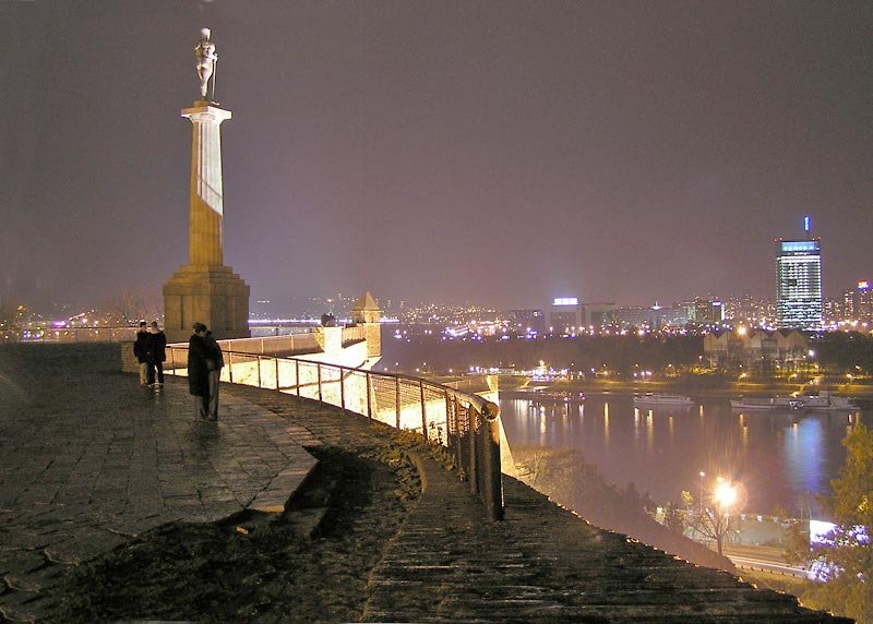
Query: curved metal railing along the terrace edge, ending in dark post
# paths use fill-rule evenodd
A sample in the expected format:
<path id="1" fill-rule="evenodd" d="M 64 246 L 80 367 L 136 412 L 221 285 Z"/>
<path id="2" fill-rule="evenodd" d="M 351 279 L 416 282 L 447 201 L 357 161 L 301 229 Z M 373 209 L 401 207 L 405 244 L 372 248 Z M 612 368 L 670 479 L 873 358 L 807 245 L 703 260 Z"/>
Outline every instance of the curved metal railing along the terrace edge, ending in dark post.
<path id="1" fill-rule="evenodd" d="M 224 351 L 223 382 L 334 405 L 446 446 L 490 520 L 503 519 L 500 410 L 471 393 L 419 377 L 297 358 Z M 188 375 L 188 347 L 168 346 L 166 374 Z"/>

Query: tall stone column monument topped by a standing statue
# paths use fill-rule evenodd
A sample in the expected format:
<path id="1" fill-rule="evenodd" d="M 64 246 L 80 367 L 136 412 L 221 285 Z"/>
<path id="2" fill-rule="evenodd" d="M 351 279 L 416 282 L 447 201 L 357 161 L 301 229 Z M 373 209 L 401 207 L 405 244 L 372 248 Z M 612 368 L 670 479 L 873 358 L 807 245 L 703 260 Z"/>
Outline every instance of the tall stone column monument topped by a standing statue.
<path id="1" fill-rule="evenodd" d="M 182 110 L 193 125 L 188 264 L 164 285 L 169 341 L 187 340 L 195 322 L 205 323 L 219 339 L 251 335 L 249 286 L 224 264 L 220 125 L 231 113 L 207 97 L 218 57 L 208 28 L 201 35 L 195 48 L 201 99 Z"/>

